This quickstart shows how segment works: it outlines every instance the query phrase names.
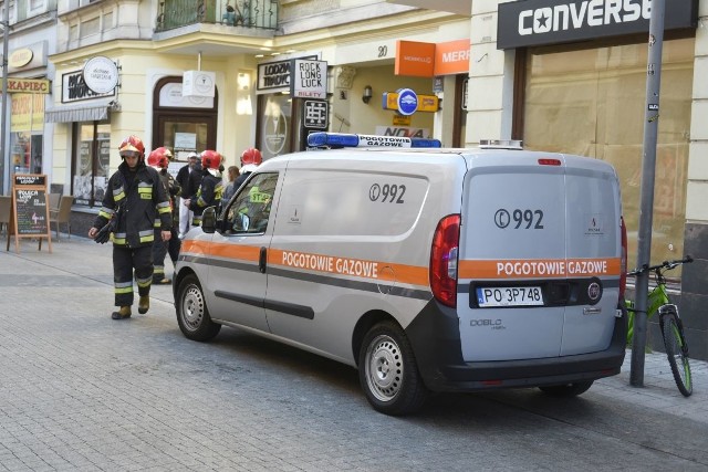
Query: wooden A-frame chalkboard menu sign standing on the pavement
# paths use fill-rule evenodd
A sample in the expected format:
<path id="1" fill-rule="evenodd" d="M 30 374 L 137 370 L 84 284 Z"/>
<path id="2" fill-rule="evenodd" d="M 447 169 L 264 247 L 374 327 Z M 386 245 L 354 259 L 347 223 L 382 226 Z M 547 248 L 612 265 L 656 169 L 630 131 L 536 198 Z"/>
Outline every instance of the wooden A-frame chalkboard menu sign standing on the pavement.
<path id="1" fill-rule="evenodd" d="M 20 252 L 20 238 L 39 239 L 42 250 L 42 239 L 49 241 L 49 252 L 52 252 L 52 238 L 49 227 L 49 204 L 46 201 L 46 176 L 39 174 L 12 175 L 12 209 L 10 214 L 10 237 L 14 235 L 14 250 Z"/>

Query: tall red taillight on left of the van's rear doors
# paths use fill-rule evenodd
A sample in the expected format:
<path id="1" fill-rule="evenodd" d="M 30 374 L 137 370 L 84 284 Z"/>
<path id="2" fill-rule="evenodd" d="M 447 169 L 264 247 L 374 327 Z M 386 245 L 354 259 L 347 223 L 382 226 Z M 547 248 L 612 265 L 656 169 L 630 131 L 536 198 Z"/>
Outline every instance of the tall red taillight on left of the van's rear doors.
<path id="1" fill-rule="evenodd" d="M 440 220 L 430 251 L 430 289 L 433 296 L 444 305 L 457 306 L 457 250 L 460 241 L 460 216 L 450 214 Z"/>

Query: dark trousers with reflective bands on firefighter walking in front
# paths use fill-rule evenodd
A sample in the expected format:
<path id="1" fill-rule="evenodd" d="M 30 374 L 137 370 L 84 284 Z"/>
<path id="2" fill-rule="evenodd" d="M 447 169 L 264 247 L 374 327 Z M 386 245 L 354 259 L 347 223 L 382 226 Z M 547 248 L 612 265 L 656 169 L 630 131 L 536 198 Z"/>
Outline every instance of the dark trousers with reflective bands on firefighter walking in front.
<path id="1" fill-rule="evenodd" d="M 133 271 L 137 293 L 147 296 L 153 283 L 153 244 L 139 248 L 113 245 L 113 284 L 115 306 L 133 305 Z"/>

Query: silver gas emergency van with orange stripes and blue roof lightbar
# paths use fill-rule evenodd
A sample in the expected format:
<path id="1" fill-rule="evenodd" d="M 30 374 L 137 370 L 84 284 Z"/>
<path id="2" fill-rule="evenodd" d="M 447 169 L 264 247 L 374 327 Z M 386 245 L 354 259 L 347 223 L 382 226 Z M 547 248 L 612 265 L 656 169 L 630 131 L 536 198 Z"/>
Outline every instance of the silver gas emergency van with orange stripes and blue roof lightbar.
<path id="1" fill-rule="evenodd" d="M 574 396 L 620 373 L 626 237 L 608 164 L 395 137 L 310 144 L 327 149 L 266 161 L 183 241 L 186 337 L 226 325 L 345 363 L 388 415 L 429 391 Z"/>

